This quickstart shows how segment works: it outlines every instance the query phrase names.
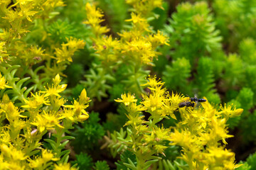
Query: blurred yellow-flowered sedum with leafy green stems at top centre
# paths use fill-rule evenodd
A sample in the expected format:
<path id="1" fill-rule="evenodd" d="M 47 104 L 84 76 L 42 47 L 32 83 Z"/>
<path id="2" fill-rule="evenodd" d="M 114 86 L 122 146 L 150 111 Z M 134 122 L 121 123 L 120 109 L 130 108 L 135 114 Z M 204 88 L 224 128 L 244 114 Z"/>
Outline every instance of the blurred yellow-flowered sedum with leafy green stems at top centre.
<path id="1" fill-rule="evenodd" d="M 82 84 L 87 87 L 88 94 L 98 100 L 107 97 L 108 84 L 114 83 L 120 84 L 124 90 L 141 93 L 139 85 L 148 74 L 146 66 L 153 65 L 153 59 L 159 54 L 156 47 L 168 45 L 166 36 L 149 26 L 152 10 L 161 8 L 162 1 L 127 1 L 127 4 L 132 6 L 132 13 L 125 20 L 129 25 L 118 33 L 119 38 L 105 35 L 110 29 L 100 25 L 105 21 L 104 15 L 95 5 L 86 4 L 87 20 L 84 23 L 90 25 L 95 57 L 100 64 L 94 64 L 90 74 L 85 76 L 87 81 L 82 81 Z M 114 94 L 114 91 L 110 92 Z"/>

